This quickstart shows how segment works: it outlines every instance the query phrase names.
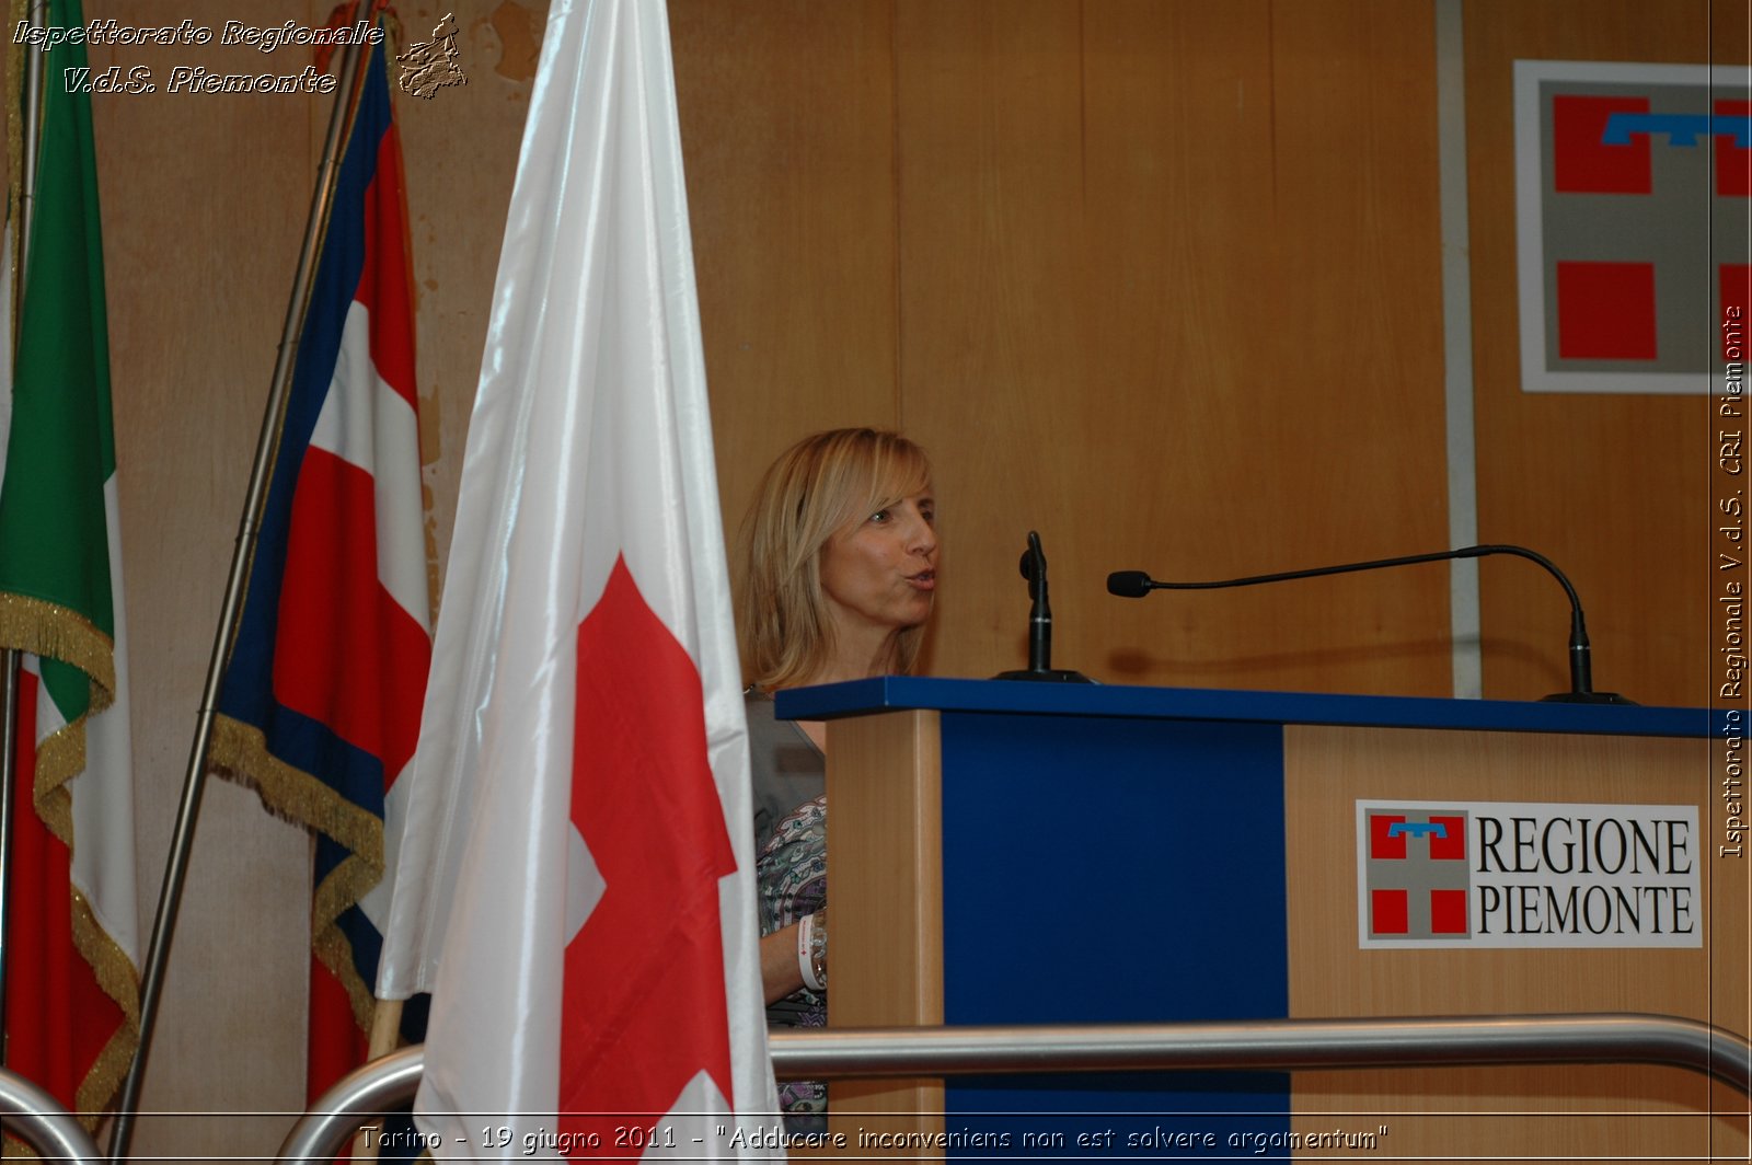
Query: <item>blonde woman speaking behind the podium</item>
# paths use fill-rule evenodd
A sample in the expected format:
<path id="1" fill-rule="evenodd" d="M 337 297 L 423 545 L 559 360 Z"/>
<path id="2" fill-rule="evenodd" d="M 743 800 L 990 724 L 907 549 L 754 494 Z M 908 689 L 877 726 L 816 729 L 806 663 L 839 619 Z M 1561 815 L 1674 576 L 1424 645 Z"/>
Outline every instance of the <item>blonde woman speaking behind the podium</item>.
<path id="1" fill-rule="evenodd" d="M 804 438 L 762 478 L 739 566 L 767 1021 L 822 1027 L 827 727 L 776 722 L 773 692 L 911 671 L 937 589 L 925 452 L 880 429 Z M 781 1084 L 780 1102 L 823 1112 L 825 1088 Z"/>

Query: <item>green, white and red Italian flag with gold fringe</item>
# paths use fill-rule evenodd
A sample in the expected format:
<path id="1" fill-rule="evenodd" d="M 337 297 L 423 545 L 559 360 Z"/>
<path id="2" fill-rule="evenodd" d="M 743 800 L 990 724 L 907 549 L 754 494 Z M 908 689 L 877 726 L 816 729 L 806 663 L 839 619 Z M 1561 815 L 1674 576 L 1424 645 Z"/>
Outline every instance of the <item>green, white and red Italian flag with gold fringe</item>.
<path id="1" fill-rule="evenodd" d="M 47 19 L 84 21 L 77 0 L 53 0 Z M 47 54 L 47 75 L 84 63 L 84 46 L 61 44 Z M 5 1067 L 93 1128 L 138 1044 L 138 916 L 91 102 L 58 84 L 44 86 L 35 207 L 18 356 L 0 392 L 0 646 L 26 652 Z M 5 259 L 11 284 L 11 245 Z M 7 301 L 7 331 L 11 319 Z"/>

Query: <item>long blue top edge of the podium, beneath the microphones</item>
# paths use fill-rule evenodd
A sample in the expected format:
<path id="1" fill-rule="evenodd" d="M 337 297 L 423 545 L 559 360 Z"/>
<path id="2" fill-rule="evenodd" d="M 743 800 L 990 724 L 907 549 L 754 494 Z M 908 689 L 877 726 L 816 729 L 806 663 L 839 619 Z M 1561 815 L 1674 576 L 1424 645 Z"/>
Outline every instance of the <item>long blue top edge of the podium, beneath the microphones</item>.
<path id="1" fill-rule="evenodd" d="M 1107 683 L 1028 683 L 883 676 L 792 688 L 778 694 L 785 720 L 834 720 L 874 711 L 936 708 L 1065 717 L 1226 720 L 1239 724 L 1319 724 L 1386 729 L 1470 729 L 1487 732 L 1580 732 L 1601 736 L 1726 736 L 1727 711 L 1561 704 L 1421 695 L 1326 695 L 1316 692 L 1235 692 Z M 1713 727 L 1713 731 L 1712 731 Z"/>

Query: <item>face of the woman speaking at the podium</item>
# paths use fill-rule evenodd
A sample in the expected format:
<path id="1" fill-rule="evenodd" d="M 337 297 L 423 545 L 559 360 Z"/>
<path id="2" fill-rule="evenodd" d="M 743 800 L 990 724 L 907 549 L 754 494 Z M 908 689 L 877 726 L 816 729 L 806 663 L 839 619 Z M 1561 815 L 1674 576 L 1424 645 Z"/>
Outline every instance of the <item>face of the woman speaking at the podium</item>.
<path id="1" fill-rule="evenodd" d="M 937 510 L 925 492 L 865 515 L 822 547 L 822 594 L 841 634 L 916 627 L 937 589 Z"/>

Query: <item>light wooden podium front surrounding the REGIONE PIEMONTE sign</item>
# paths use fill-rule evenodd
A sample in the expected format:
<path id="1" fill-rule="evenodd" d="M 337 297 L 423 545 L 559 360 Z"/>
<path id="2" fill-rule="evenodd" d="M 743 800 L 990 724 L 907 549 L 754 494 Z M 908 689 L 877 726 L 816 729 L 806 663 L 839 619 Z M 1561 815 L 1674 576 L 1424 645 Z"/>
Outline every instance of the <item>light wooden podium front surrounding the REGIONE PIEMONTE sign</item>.
<path id="1" fill-rule="evenodd" d="M 1706 841 L 1708 752 L 1706 739 L 1288 727 L 1289 1014 L 1640 1011 L 1747 1032 L 1743 858 L 1698 855 L 1706 930 L 1694 950 L 1363 951 L 1356 911 L 1333 909 L 1354 902 L 1358 799 L 1692 804 Z M 1295 1077 L 1298 1130 L 1388 1126 L 1382 1147 L 1412 1156 L 1745 1160 L 1745 1105 L 1694 1072 L 1642 1065 Z"/>

